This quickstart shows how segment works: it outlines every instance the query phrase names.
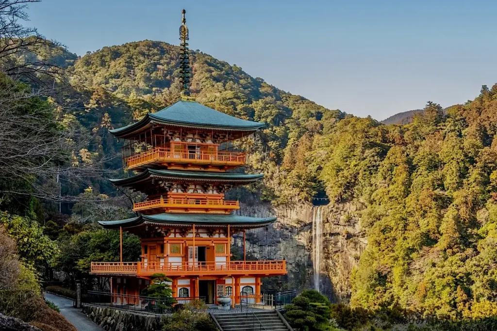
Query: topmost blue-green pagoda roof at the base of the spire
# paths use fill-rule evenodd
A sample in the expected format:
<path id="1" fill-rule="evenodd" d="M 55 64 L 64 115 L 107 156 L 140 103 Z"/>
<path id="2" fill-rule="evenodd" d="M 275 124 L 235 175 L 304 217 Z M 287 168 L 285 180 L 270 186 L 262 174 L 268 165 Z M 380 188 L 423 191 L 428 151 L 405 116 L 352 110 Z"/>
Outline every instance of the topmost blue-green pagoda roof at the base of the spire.
<path id="1" fill-rule="evenodd" d="M 143 129 L 149 128 L 151 124 L 244 132 L 256 131 L 264 126 L 264 123 L 242 120 L 195 101 L 180 100 L 157 113 L 147 113 L 138 122 L 110 130 L 110 132 L 116 137 L 124 137 L 133 135 L 135 132 L 141 132 Z"/>

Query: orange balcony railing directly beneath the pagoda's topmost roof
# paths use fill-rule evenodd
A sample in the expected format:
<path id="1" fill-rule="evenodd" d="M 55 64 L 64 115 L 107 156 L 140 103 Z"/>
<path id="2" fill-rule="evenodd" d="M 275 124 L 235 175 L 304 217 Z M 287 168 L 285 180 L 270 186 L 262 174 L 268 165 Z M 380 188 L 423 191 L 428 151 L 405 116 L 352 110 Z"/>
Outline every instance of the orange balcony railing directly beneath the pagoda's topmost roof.
<path id="1" fill-rule="evenodd" d="M 174 151 L 166 147 L 155 147 L 148 151 L 126 157 L 124 167 L 137 168 L 150 163 L 192 163 L 202 165 L 243 166 L 247 160 L 243 152 L 198 152 Z"/>

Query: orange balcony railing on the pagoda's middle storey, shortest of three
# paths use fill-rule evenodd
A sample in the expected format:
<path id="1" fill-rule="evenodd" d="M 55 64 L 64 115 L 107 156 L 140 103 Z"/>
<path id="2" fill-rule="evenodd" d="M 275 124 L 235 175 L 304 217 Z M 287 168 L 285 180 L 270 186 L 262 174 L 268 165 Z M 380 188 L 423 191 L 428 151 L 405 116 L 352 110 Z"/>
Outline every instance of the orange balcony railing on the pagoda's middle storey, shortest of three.
<path id="1" fill-rule="evenodd" d="M 240 209 L 238 201 L 223 199 L 160 198 L 133 204 L 133 211 L 153 208 Z"/>

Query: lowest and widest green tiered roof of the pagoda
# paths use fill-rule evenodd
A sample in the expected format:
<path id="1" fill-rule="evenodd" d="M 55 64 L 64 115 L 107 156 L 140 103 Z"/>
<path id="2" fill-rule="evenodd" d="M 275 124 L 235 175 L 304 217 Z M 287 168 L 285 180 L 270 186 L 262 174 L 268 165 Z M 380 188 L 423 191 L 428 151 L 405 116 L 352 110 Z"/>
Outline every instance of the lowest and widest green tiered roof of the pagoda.
<path id="1" fill-rule="evenodd" d="M 276 217 L 248 217 L 239 215 L 219 215 L 219 214 L 180 214 L 162 213 L 155 215 L 139 215 L 133 218 L 116 221 L 98 221 L 106 229 L 118 229 L 119 227 L 133 228 L 143 224 L 169 225 L 169 226 L 228 226 L 234 228 L 257 228 L 264 227 L 276 220 Z"/>

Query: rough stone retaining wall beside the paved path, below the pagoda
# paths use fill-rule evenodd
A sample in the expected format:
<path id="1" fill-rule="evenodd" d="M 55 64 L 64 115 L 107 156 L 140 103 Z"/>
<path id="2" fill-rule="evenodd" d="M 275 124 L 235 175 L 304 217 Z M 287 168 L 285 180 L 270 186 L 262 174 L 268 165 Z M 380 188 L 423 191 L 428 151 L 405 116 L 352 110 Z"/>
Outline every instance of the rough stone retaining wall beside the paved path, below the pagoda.
<path id="1" fill-rule="evenodd" d="M 105 331 L 161 330 L 161 316 L 83 305 L 83 313 Z"/>

